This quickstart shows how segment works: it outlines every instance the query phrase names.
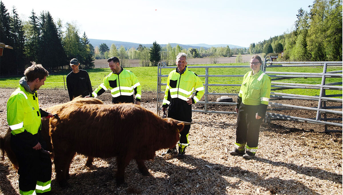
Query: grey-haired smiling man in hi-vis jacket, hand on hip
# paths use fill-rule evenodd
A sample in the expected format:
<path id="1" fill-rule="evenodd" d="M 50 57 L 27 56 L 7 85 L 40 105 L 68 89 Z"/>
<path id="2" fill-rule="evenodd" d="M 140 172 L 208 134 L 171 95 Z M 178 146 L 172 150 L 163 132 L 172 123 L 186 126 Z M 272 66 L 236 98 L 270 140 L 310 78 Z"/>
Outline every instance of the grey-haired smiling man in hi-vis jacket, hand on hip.
<path id="1" fill-rule="evenodd" d="M 198 75 L 187 68 L 187 54 L 179 53 L 176 56 L 177 68 L 169 73 L 167 87 L 163 99 L 162 110 L 167 107 L 168 117 L 179 121 L 192 122 L 192 104 L 197 103 L 204 95 L 204 86 Z M 192 97 L 193 90 L 196 90 Z M 178 158 L 185 158 L 185 149 L 189 145 L 188 133 L 190 125 L 185 125 L 180 133 Z M 168 149 L 166 153 L 177 153 L 176 147 Z"/>

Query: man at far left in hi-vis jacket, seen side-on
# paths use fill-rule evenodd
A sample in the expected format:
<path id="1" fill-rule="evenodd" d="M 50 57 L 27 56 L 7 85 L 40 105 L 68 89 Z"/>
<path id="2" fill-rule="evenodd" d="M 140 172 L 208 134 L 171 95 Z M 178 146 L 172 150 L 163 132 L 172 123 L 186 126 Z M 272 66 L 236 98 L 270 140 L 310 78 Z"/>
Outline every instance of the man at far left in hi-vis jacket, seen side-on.
<path id="1" fill-rule="evenodd" d="M 19 88 L 7 102 L 7 122 L 11 128 L 11 148 L 19 163 L 20 194 L 50 194 L 51 159 L 42 152 L 46 147 L 40 137 L 40 117 L 52 116 L 39 108 L 37 90 L 49 72 L 42 65 L 28 67 Z M 44 151 L 44 150 L 43 150 Z"/>

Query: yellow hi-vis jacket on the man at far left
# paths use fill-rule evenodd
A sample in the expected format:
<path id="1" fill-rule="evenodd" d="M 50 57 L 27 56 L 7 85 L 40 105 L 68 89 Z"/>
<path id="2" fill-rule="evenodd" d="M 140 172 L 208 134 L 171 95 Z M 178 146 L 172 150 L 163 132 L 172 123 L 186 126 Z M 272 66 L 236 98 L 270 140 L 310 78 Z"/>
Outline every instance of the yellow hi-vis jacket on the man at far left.
<path id="1" fill-rule="evenodd" d="M 7 101 L 7 122 L 13 135 L 26 130 L 32 135 L 40 128 L 40 110 L 37 92 L 28 93 L 22 85 L 16 89 Z"/>

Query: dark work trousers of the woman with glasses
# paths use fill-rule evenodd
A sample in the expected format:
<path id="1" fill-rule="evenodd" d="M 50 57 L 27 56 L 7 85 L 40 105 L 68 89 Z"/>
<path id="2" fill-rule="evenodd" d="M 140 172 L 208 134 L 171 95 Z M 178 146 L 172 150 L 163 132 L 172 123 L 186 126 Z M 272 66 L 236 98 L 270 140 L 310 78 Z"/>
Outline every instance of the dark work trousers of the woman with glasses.
<path id="1" fill-rule="evenodd" d="M 237 116 L 236 143 L 245 144 L 250 148 L 257 147 L 260 125 L 263 116 L 256 119 L 258 105 L 240 104 Z"/>

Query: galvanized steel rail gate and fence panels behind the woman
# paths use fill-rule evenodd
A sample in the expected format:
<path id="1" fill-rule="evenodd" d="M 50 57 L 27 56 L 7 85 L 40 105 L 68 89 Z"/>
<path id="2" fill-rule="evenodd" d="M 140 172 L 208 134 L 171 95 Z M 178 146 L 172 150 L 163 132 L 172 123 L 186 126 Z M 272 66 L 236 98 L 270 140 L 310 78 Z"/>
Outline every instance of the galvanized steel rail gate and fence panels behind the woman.
<path id="1" fill-rule="evenodd" d="M 269 59 L 268 59 L 269 58 Z M 266 71 L 267 68 L 273 67 L 314 67 L 314 66 L 322 66 L 323 73 L 306 73 L 306 72 L 272 72 Z M 327 107 L 326 102 L 342 102 L 342 98 L 332 98 L 332 97 L 340 97 L 342 96 L 342 82 L 335 82 L 335 83 L 326 83 L 326 78 L 342 78 L 342 69 L 338 71 L 327 72 L 328 66 L 342 66 L 342 62 L 272 62 L 270 61 L 270 57 L 267 56 L 264 59 L 264 65 L 261 67 L 265 73 L 267 73 L 272 78 L 272 91 L 281 90 L 281 89 L 319 89 L 320 94 L 319 96 L 308 96 L 308 95 L 298 95 L 298 94 L 289 94 L 289 93 L 275 93 L 271 92 L 271 99 L 269 102 L 269 106 L 272 107 L 279 107 L 277 109 L 282 110 L 309 110 L 309 111 L 316 111 L 317 115 L 316 118 L 301 118 L 295 116 L 288 116 L 288 115 L 281 115 L 275 114 L 271 112 L 267 112 L 266 119 L 267 121 L 270 120 L 289 120 L 289 121 L 298 121 L 298 122 L 307 122 L 307 123 L 314 123 L 319 125 L 325 125 L 325 131 L 337 131 L 337 130 L 328 130 L 327 126 L 338 126 L 342 127 L 342 123 L 334 123 L 328 121 L 340 121 L 342 122 L 342 118 L 327 118 L 326 115 L 330 114 L 337 114 L 342 116 L 342 107 Z M 168 77 L 167 74 L 162 74 L 162 69 L 175 69 L 176 66 L 169 66 L 167 67 L 165 62 L 159 62 L 157 66 L 157 113 L 160 114 L 162 110 L 162 101 L 164 96 L 164 91 L 161 90 L 163 85 L 166 83 L 162 83 L 162 77 Z M 204 101 L 199 101 L 199 104 L 204 104 L 204 110 L 192 110 L 192 112 L 201 112 L 201 113 L 217 113 L 217 114 L 237 114 L 236 112 L 228 112 L 228 111 L 210 111 L 208 110 L 209 104 L 221 104 L 221 105 L 235 105 L 235 102 L 210 102 L 208 99 L 209 95 L 234 95 L 237 96 L 237 93 L 209 93 L 208 88 L 211 86 L 240 86 L 240 84 L 209 84 L 210 77 L 243 77 L 244 75 L 238 74 L 219 74 L 219 75 L 210 75 L 209 69 L 213 68 L 250 68 L 250 66 L 188 66 L 189 69 L 193 68 L 204 68 L 205 74 L 199 75 L 199 77 L 205 77 L 205 94 L 204 94 Z M 303 84 L 303 83 L 285 83 L 285 82 L 273 82 L 275 80 L 285 80 L 291 78 L 322 78 L 321 84 Z M 326 95 L 325 90 L 340 90 L 340 94 L 336 95 Z M 318 107 L 305 107 L 305 106 L 297 106 L 297 105 L 289 105 L 289 104 L 280 104 L 274 103 L 273 100 L 280 100 L 280 99 L 300 99 L 300 100 L 315 100 L 318 101 Z M 331 109 L 331 110 L 330 110 Z M 336 110 L 332 110 L 336 109 Z M 273 110 L 273 109 L 268 109 Z M 274 109 L 275 110 L 275 109 Z M 339 111 L 337 111 L 339 110 Z M 321 117 L 321 113 L 324 114 L 324 117 Z M 341 130 L 340 130 L 341 132 Z"/>

